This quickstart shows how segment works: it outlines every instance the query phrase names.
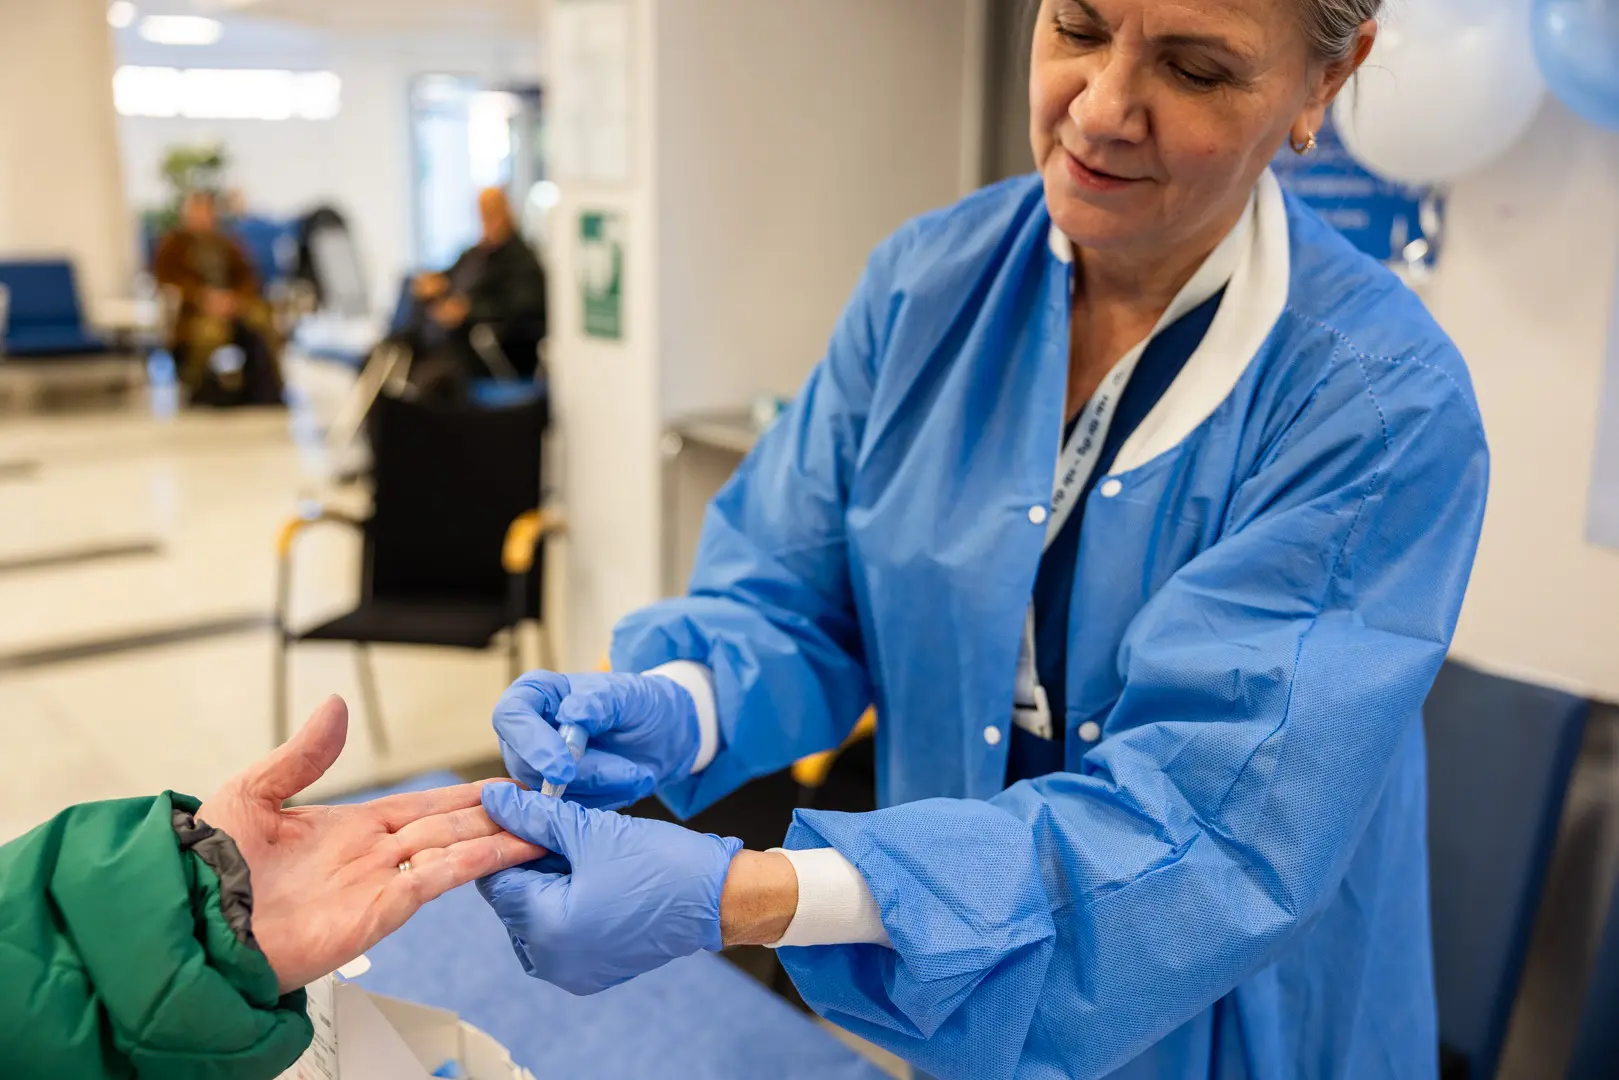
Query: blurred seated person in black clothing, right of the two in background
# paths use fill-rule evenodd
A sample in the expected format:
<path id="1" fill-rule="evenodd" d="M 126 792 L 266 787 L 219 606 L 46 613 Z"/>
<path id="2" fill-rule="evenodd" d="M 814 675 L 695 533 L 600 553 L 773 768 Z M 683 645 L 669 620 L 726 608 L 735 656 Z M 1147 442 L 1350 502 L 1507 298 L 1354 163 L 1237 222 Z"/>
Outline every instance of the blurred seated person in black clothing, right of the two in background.
<path id="1" fill-rule="evenodd" d="M 411 350 L 411 384 L 432 400 L 461 400 L 470 382 L 505 374 L 486 359 L 489 342 L 512 369 L 531 379 L 546 338 L 546 270 L 516 232 L 505 191 L 478 194 L 482 236 L 448 270 L 411 282 L 410 319 L 389 340 Z"/>

